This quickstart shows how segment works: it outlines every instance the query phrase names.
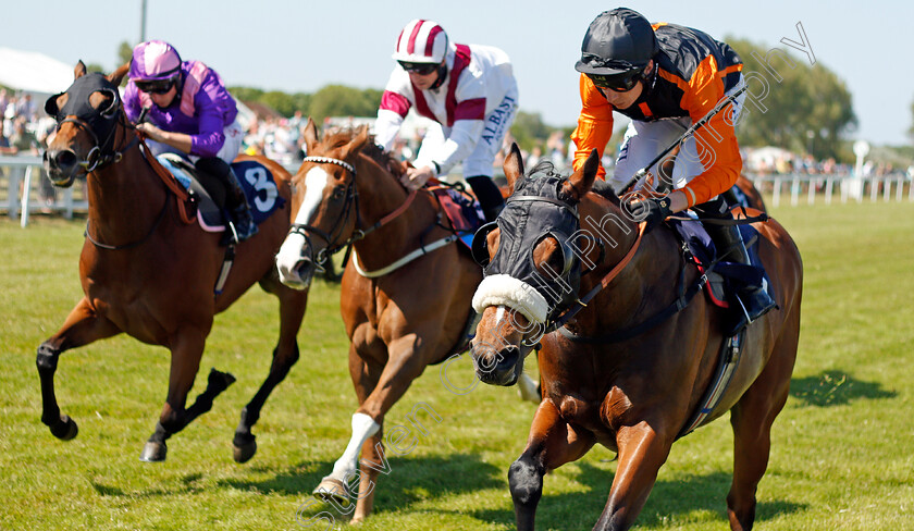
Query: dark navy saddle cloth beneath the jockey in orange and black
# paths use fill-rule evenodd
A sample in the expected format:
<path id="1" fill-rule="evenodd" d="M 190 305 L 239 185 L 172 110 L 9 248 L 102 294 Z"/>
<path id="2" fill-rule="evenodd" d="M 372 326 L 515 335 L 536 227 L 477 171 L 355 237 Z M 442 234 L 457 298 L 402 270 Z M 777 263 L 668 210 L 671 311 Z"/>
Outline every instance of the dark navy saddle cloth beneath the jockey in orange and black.
<path id="1" fill-rule="evenodd" d="M 774 299 L 771 283 L 765 273 L 762 260 L 758 258 L 758 231 L 752 225 L 738 225 L 742 236 L 745 250 L 749 252 L 751 266 L 718 260 L 717 249 L 714 242 L 699 220 L 667 220 L 678 237 L 688 246 L 689 251 L 703 273 L 707 273 L 708 282 L 706 293 L 708 298 L 720 308 L 739 309 L 739 302 L 732 304 L 737 293 L 743 286 L 763 286 Z"/>

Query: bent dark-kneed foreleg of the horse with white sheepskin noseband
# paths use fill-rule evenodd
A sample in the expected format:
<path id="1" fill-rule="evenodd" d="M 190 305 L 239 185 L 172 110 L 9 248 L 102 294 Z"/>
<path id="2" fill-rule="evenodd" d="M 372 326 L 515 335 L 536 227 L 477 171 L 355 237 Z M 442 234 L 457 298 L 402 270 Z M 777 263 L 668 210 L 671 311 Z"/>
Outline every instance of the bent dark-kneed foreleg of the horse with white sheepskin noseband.
<path id="1" fill-rule="evenodd" d="M 593 434 L 575 430 L 565 422 L 552 400 L 540 403 L 527 447 L 508 469 L 518 531 L 533 529 L 546 471 L 579 459 L 593 445 Z"/>

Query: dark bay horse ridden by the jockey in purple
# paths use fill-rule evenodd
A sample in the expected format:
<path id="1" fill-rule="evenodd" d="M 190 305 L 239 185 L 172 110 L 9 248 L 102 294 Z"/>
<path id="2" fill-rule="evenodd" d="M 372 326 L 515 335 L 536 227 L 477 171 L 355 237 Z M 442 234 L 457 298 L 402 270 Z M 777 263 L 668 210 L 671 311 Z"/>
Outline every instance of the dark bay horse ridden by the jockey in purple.
<path id="1" fill-rule="evenodd" d="M 213 370 L 206 391 L 185 407 L 213 316 L 259 282 L 280 300 L 280 337 L 270 373 L 242 410 L 235 431 L 234 458 L 244 462 L 257 450 L 251 427 L 263 403 L 298 359 L 296 335 L 308 294 L 281 284 L 273 268 L 273 256 L 288 231 L 287 211 L 274 212 L 257 236 L 237 245 L 234 264 L 217 296 L 226 248 L 220 245 L 220 234 L 190 223 L 185 203 L 175 199 L 184 190 L 170 188 L 168 173 L 158 173 L 155 159 L 141 152 L 143 143 L 118 94 L 127 67 L 102 76 L 87 74 L 81 61 L 73 85 L 46 104 L 58 120 L 45 155 L 48 175 L 55 186 L 66 187 L 85 174 L 89 212 L 79 256 L 84 298 L 38 348 L 41 421 L 58 439 L 76 436 L 75 421 L 61 413 L 54 395 L 58 358 L 65 350 L 126 333 L 171 353 L 168 397 L 140 455 L 145 461 L 164 460 L 165 441 L 208 411 L 212 399 L 234 382 L 231 374 Z M 279 197 L 288 201 L 288 172 L 265 158 L 257 160 L 272 172 Z"/>

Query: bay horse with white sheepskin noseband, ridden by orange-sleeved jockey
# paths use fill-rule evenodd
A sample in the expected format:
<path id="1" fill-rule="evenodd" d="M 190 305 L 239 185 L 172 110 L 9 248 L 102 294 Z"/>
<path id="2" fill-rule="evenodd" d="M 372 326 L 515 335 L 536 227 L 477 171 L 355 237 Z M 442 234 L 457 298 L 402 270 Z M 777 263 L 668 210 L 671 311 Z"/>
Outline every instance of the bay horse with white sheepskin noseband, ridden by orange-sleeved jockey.
<path id="1" fill-rule="evenodd" d="M 749 530 L 771 424 L 787 400 L 796 357 L 800 252 L 776 221 L 754 223 L 779 308 L 745 329 L 741 351 L 730 360 L 738 365 L 729 385 L 716 406 L 699 411 L 727 339 L 722 310 L 696 296 L 676 311 L 683 301 L 677 294 L 702 286 L 702 274 L 687 264 L 672 231 L 660 225 L 644 234 L 644 223 L 626 213 L 612 189 L 593 192 L 597 166 L 594 150 L 569 177 L 540 166 L 524 176 L 515 146 L 505 162 L 512 195 L 497 227 L 474 240 L 482 261 L 489 260 L 473 299 L 482 313 L 471 346 L 478 376 L 511 385 L 523 356 L 538 342 L 542 347 L 543 400 L 508 472 L 517 527 L 533 529 L 543 474 L 600 443 L 618 454 L 618 465 L 593 529 L 629 529 L 674 441 L 695 427 L 697 415 L 706 415 L 703 425 L 729 410 L 734 460 L 728 517 L 732 530 Z M 610 245 L 595 245 L 594 235 Z M 556 295 L 543 295 L 546 288 Z M 563 321 L 568 308 L 580 311 Z M 565 326 L 549 331 L 556 319 Z"/>

